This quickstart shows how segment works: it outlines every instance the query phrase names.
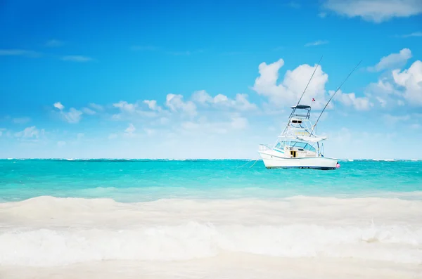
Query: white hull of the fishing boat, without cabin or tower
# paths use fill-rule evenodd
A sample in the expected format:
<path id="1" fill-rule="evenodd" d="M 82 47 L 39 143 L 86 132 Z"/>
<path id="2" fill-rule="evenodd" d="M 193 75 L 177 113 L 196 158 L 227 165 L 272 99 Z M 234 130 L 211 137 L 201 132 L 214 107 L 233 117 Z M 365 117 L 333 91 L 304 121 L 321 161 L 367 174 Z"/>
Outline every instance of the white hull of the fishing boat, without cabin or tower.
<path id="1" fill-rule="evenodd" d="M 260 155 L 267 169 L 336 169 L 338 163 L 338 160 L 328 157 L 286 158 L 261 152 Z"/>

